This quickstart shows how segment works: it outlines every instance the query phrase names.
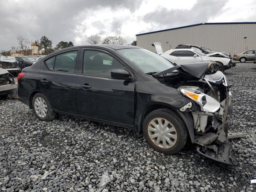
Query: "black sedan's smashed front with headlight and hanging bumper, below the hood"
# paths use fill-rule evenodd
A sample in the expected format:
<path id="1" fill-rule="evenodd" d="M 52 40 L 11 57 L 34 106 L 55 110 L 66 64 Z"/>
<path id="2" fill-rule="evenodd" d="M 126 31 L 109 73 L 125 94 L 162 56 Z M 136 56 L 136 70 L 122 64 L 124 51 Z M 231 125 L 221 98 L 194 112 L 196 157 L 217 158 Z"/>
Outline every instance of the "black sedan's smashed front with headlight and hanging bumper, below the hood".
<path id="1" fill-rule="evenodd" d="M 233 165 L 232 142 L 228 140 L 228 115 L 232 114 L 230 85 L 222 72 L 206 74 L 206 86 L 180 86 L 178 89 L 191 99 L 194 122 L 194 143 L 198 153 L 222 163 Z M 185 111 L 184 108 L 180 108 Z"/>

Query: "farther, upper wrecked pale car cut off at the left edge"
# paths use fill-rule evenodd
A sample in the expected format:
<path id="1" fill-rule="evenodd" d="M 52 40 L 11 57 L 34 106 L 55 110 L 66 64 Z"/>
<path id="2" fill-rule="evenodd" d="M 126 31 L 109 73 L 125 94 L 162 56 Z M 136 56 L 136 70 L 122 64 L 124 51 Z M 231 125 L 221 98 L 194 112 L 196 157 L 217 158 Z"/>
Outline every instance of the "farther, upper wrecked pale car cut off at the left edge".
<path id="1" fill-rule="evenodd" d="M 15 57 L 2 54 L 0 54 L 0 68 L 7 70 L 14 76 L 18 76 L 21 72 L 21 68 L 18 66 L 18 62 L 15 60 Z"/>

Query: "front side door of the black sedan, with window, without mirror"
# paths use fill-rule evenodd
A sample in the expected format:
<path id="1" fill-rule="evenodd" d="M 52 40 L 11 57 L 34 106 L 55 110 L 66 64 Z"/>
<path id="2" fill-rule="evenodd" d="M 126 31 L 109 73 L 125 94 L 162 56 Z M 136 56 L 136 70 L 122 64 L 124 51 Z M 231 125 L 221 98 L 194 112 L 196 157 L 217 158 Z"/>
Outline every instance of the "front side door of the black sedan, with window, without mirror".
<path id="1" fill-rule="evenodd" d="M 78 113 L 82 116 L 126 125 L 134 124 L 134 80 L 112 79 L 115 69 L 131 70 L 113 54 L 85 49 L 76 80 Z"/>

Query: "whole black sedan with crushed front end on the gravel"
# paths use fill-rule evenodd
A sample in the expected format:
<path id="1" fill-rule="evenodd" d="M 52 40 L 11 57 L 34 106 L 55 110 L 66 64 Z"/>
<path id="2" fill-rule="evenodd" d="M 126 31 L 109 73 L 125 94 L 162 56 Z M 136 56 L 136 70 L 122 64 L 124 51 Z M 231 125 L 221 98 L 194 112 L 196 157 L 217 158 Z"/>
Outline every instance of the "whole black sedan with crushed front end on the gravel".
<path id="1" fill-rule="evenodd" d="M 18 95 L 42 121 L 58 113 L 134 128 L 164 154 L 189 139 L 200 154 L 233 164 L 230 85 L 211 61 L 179 66 L 136 46 L 70 47 L 24 68 Z"/>

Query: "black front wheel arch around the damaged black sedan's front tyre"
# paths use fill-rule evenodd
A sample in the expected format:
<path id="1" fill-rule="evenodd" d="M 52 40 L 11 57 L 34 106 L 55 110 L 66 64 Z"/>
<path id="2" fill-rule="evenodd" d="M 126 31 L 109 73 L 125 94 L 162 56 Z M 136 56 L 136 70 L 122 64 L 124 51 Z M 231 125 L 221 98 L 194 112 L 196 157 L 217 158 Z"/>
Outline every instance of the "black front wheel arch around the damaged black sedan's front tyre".
<path id="1" fill-rule="evenodd" d="M 179 110 L 173 110 L 171 107 L 166 106 L 164 104 L 153 104 L 150 106 L 147 106 L 143 112 L 139 116 L 139 121 L 136 123 L 136 128 L 138 130 L 138 134 L 142 133 L 142 128 L 143 128 L 143 122 L 146 116 L 157 109 L 168 109 L 171 110 L 172 112 L 176 113 L 184 122 L 186 125 L 186 128 L 188 130 L 188 133 L 190 135 L 191 142 L 194 142 L 194 123 L 193 123 L 193 118 L 190 112 L 181 112 Z"/>

